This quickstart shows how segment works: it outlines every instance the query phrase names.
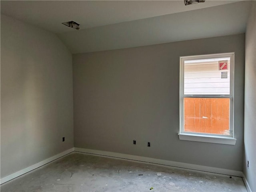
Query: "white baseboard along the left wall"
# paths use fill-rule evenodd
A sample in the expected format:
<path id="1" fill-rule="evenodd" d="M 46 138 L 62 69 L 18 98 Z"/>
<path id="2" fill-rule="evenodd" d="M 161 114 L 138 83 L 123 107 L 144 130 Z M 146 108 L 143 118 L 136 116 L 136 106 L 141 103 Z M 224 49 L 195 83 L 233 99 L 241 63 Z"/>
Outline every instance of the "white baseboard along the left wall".
<path id="1" fill-rule="evenodd" d="M 12 174 L 10 174 L 10 175 L 8 175 L 8 176 L 6 176 L 6 177 L 3 177 L 3 178 L 1 178 L 1 180 L 0 180 L 0 184 L 3 184 L 3 183 L 5 183 L 5 182 L 8 182 L 8 181 L 10 181 L 10 180 L 12 180 L 12 179 L 14 179 L 14 178 L 16 178 L 16 177 L 18 177 L 18 176 L 21 176 L 21 175 L 23 175 L 23 174 L 25 174 L 25 173 L 27 173 L 27 172 L 30 172 L 30 171 L 32 171 L 32 170 L 38 168 L 38 167 L 41 167 L 41 166 L 43 166 L 43 165 L 45 165 L 45 164 L 47 164 L 47 163 L 49 163 L 49 162 L 51 162 L 51 161 L 53 161 L 53 160 L 56 160 L 56 159 L 58 159 L 58 158 L 60 158 L 60 157 L 62 157 L 62 156 L 64 156 L 64 155 L 66 155 L 66 154 L 69 154 L 69 153 L 71 153 L 71 152 L 73 152 L 73 151 L 74 151 L 74 148 L 70 148 L 70 149 L 68 149 L 68 150 L 66 150 L 66 151 L 64 151 L 64 152 L 61 152 L 61 153 L 59 153 L 59 154 L 57 154 L 57 155 L 54 155 L 54 156 L 52 156 L 52 157 L 50 157 L 50 158 L 48 158 L 48 159 L 46 159 L 46 160 L 43 160 L 43 161 L 41 161 L 41 162 L 39 162 L 39 163 L 36 163 L 36 164 L 34 164 L 34 165 L 32 165 L 32 166 L 29 166 L 29 167 L 24 168 L 24 169 L 22 169 L 22 170 L 20 170 L 20 171 L 17 171 L 17 172 L 15 172 L 15 173 L 12 173 Z"/>

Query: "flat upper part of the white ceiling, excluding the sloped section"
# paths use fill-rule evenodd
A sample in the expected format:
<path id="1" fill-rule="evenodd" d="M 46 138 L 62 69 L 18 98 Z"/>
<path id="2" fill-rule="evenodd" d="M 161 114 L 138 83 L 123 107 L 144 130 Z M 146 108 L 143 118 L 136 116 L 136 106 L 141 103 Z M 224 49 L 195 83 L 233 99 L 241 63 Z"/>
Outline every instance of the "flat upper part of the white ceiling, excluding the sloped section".
<path id="1" fill-rule="evenodd" d="M 120 22 L 144 19 L 160 15 L 184 12 L 236 1 L 209 1 L 185 6 L 183 0 L 176 1 L 2 1 L 1 13 L 27 23 L 40 26 L 55 33 L 72 31 L 61 24 L 75 21 L 81 29 L 104 26 Z"/>

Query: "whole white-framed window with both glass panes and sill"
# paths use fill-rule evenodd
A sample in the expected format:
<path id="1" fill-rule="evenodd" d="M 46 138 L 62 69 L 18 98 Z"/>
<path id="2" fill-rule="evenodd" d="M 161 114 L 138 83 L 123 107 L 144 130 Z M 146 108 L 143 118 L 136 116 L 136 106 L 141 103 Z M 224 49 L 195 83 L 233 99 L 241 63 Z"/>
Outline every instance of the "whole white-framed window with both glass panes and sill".
<path id="1" fill-rule="evenodd" d="M 181 140 L 235 144 L 234 53 L 180 57 Z"/>

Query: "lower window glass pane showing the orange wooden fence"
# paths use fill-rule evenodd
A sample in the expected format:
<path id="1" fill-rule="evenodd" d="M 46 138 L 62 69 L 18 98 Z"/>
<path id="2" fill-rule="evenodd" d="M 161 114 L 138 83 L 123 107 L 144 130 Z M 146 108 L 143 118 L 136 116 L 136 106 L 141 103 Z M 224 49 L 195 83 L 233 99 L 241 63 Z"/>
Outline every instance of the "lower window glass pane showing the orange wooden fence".
<path id="1" fill-rule="evenodd" d="M 184 98 L 184 132 L 230 135 L 230 98 Z"/>

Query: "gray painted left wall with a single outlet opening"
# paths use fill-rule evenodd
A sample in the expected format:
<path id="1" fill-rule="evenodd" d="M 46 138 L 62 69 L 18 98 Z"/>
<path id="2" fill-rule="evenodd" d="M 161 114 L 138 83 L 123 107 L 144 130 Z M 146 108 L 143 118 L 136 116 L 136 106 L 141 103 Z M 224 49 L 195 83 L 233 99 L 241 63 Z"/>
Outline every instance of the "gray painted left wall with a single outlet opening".
<path id="1" fill-rule="evenodd" d="M 74 146 L 72 86 L 58 37 L 1 15 L 1 178 Z"/>

